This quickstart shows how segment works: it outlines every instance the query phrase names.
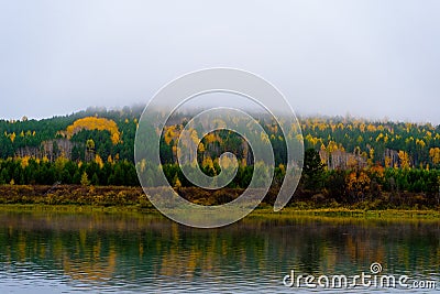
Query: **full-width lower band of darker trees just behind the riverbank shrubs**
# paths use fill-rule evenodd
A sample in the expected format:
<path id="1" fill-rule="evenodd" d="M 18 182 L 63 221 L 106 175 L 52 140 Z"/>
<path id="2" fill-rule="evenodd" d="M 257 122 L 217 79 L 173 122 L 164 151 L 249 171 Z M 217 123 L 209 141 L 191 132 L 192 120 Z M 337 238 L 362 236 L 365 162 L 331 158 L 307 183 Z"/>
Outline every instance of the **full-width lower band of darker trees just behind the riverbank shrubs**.
<path id="1" fill-rule="evenodd" d="M 53 185 L 77 184 L 82 186 L 140 186 L 133 163 L 127 160 L 103 162 L 98 155 L 90 162 L 74 162 L 58 157 L 54 162 L 30 157 L 0 160 L 0 184 L 6 185 Z M 164 164 L 161 170 L 176 190 L 197 188 L 184 176 L 177 164 Z M 218 161 L 201 165 L 208 175 L 220 172 Z M 243 189 L 249 186 L 253 166 L 240 165 L 234 179 L 227 186 Z M 285 177 L 285 166 L 275 168 L 271 193 L 265 203 L 273 204 Z M 204 189 L 191 189 L 189 199 L 207 197 Z M 188 194 L 188 193 L 187 193 Z M 221 192 L 220 192 L 221 194 Z M 223 193 L 224 194 L 224 193 Z M 440 171 L 421 168 L 385 168 L 374 165 L 365 168 L 328 170 L 319 153 L 306 151 L 302 177 L 293 202 L 322 205 L 376 204 L 381 208 L 438 207 L 440 205 Z M 212 203 L 212 199 L 210 200 Z M 383 207 L 385 206 L 385 207 Z"/>

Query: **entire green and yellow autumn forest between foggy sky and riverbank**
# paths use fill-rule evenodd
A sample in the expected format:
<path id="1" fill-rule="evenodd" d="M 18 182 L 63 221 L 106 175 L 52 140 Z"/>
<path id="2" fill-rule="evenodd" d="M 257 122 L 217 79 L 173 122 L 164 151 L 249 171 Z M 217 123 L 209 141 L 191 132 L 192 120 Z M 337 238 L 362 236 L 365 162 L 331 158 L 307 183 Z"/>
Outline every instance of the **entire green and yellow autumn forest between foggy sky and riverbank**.
<path id="1" fill-rule="evenodd" d="M 89 108 L 43 120 L 0 120 L 0 184 L 139 186 L 133 150 L 142 110 Z M 177 115 L 161 133 L 162 168 L 176 188 L 191 186 L 176 163 L 177 139 L 188 119 Z M 261 140 L 274 150 L 276 188 L 285 173 L 285 137 L 276 122 L 260 123 L 266 132 Z M 353 203 L 408 193 L 424 205 L 439 204 L 440 126 L 342 117 L 305 117 L 299 123 L 306 156 L 297 198 Z M 202 139 L 201 170 L 218 174 L 224 151 L 239 160 L 228 188 L 245 188 L 253 174 L 252 150 L 233 132 Z"/>

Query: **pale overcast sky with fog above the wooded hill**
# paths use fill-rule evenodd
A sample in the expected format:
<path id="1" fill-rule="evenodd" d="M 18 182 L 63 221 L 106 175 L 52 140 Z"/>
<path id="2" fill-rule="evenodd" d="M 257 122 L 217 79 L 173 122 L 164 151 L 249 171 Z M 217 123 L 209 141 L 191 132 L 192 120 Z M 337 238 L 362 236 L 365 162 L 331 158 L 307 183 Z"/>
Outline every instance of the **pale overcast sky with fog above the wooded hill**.
<path id="1" fill-rule="evenodd" d="M 212 66 L 300 115 L 440 123 L 440 1 L 0 0 L 0 118 L 146 104 Z"/>

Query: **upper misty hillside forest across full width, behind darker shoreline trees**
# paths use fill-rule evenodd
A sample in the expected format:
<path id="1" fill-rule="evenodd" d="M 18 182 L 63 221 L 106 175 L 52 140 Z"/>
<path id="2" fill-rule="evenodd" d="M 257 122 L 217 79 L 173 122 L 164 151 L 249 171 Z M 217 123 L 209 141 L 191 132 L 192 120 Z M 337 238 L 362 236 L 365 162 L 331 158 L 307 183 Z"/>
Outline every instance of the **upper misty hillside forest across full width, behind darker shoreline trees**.
<path id="1" fill-rule="evenodd" d="M 43 120 L 0 120 L 0 159 L 34 157 L 76 162 L 127 160 L 133 162 L 134 137 L 142 107 L 120 110 L 89 108 L 65 117 Z M 185 123 L 184 117 L 164 131 L 164 162 L 174 162 L 173 145 Z M 378 122 L 341 117 L 300 118 L 306 149 L 319 152 L 329 168 L 382 165 L 384 167 L 438 168 L 440 166 L 440 126 L 404 122 Z M 279 128 L 264 122 L 277 163 L 284 162 L 284 142 Z M 215 143 L 216 141 L 216 143 Z M 213 143 L 231 142 L 216 134 L 199 149 L 215 156 Z M 242 145 L 237 151 L 243 153 Z M 210 152 L 210 153 L 209 153 Z M 245 155 L 241 155 L 245 156 Z M 240 156 L 239 156 L 240 157 Z M 244 159 L 243 164 L 250 164 Z"/>

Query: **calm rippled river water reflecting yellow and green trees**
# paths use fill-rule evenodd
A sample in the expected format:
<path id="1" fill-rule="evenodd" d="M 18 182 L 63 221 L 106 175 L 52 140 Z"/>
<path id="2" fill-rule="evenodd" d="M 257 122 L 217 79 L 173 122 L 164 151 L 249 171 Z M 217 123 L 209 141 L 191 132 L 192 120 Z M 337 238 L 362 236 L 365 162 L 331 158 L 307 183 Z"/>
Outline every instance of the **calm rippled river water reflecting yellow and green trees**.
<path id="1" fill-rule="evenodd" d="M 350 277 L 372 262 L 437 288 L 283 284 L 292 270 Z M 439 221 L 248 217 L 207 230 L 157 215 L 0 213 L 0 293 L 435 293 L 439 270 Z"/>

